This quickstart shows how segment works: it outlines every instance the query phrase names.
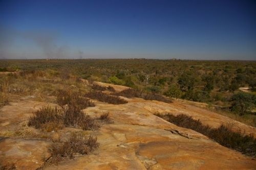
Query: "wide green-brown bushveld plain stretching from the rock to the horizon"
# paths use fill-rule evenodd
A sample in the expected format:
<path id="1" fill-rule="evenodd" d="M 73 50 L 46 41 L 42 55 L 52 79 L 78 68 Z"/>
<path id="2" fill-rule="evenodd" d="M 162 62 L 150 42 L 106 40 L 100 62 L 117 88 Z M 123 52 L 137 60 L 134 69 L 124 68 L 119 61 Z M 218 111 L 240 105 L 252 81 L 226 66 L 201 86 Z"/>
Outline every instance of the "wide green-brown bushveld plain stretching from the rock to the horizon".
<path id="1" fill-rule="evenodd" d="M 81 60 L 1 60 L 2 71 L 18 71 L 19 75 L 0 76 L 0 103 L 7 104 L 10 95 L 56 95 L 57 87 L 73 86 L 88 92 L 80 79 L 129 86 L 148 94 L 164 94 L 221 106 L 220 113 L 237 117 L 256 126 L 255 61 L 196 61 L 149 59 L 81 59 Z M 0 70 L 0 71 L 1 71 Z M 250 87 L 241 92 L 240 87 Z M 96 90 L 101 87 L 92 85 Z M 74 90 L 72 89 L 72 90 Z M 113 90 L 113 89 L 106 89 Z M 160 95 L 159 95 L 160 96 Z M 51 100 L 51 99 L 48 99 Z M 231 114 L 226 114 L 226 111 Z M 232 116 L 236 115 L 236 116 Z M 246 121 L 244 121 L 244 120 Z"/>

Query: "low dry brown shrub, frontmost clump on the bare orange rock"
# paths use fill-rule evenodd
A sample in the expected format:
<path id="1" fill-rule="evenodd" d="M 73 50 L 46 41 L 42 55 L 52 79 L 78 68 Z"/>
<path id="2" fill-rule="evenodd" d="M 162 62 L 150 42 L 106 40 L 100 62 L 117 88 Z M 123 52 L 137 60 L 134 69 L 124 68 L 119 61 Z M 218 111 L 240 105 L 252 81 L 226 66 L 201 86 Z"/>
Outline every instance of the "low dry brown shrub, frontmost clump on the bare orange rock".
<path id="1" fill-rule="evenodd" d="M 49 161 L 57 163 L 65 157 L 72 158 L 75 154 L 89 154 L 98 147 L 96 136 L 86 137 L 82 132 L 73 132 L 67 140 L 53 142 L 49 149 L 52 155 Z"/>

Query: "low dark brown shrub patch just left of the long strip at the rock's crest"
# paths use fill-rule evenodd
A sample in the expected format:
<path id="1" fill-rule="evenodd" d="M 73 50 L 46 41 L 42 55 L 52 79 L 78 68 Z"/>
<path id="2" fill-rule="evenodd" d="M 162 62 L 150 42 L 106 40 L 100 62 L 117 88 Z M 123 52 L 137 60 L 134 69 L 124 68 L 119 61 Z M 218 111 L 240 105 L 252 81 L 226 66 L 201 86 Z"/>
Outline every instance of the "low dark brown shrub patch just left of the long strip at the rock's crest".
<path id="1" fill-rule="evenodd" d="M 128 103 L 126 100 L 119 98 L 118 96 L 108 95 L 101 91 L 90 91 L 85 95 L 87 98 L 95 99 L 100 102 L 110 103 L 114 105 Z"/>

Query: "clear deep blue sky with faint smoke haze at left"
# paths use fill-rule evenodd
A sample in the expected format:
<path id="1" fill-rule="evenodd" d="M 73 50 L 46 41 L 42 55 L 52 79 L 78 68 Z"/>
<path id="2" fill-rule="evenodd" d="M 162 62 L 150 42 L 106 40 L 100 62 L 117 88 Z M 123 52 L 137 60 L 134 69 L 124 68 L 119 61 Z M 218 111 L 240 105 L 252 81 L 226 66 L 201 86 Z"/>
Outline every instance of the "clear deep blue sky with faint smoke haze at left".
<path id="1" fill-rule="evenodd" d="M 0 58 L 256 60 L 256 1 L 0 0 Z"/>

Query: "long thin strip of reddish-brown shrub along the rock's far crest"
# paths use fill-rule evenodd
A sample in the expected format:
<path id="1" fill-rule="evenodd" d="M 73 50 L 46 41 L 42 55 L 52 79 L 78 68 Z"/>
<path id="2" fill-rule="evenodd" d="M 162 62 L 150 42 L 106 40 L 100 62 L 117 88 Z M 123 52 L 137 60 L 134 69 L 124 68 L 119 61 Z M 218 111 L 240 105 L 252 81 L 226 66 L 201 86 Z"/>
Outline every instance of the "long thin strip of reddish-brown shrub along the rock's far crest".
<path id="1" fill-rule="evenodd" d="M 153 94 L 153 93 L 142 93 L 142 91 L 135 90 L 133 88 L 122 90 L 118 93 L 114 93 L 113 95 L 121 95 L 125 96 L 126 98 L 142 98 L 144 100 L 155 100 L 165 103 L 172 103 L 172 100 L 166 99 L 164 96 L 160 94 Z"/>

